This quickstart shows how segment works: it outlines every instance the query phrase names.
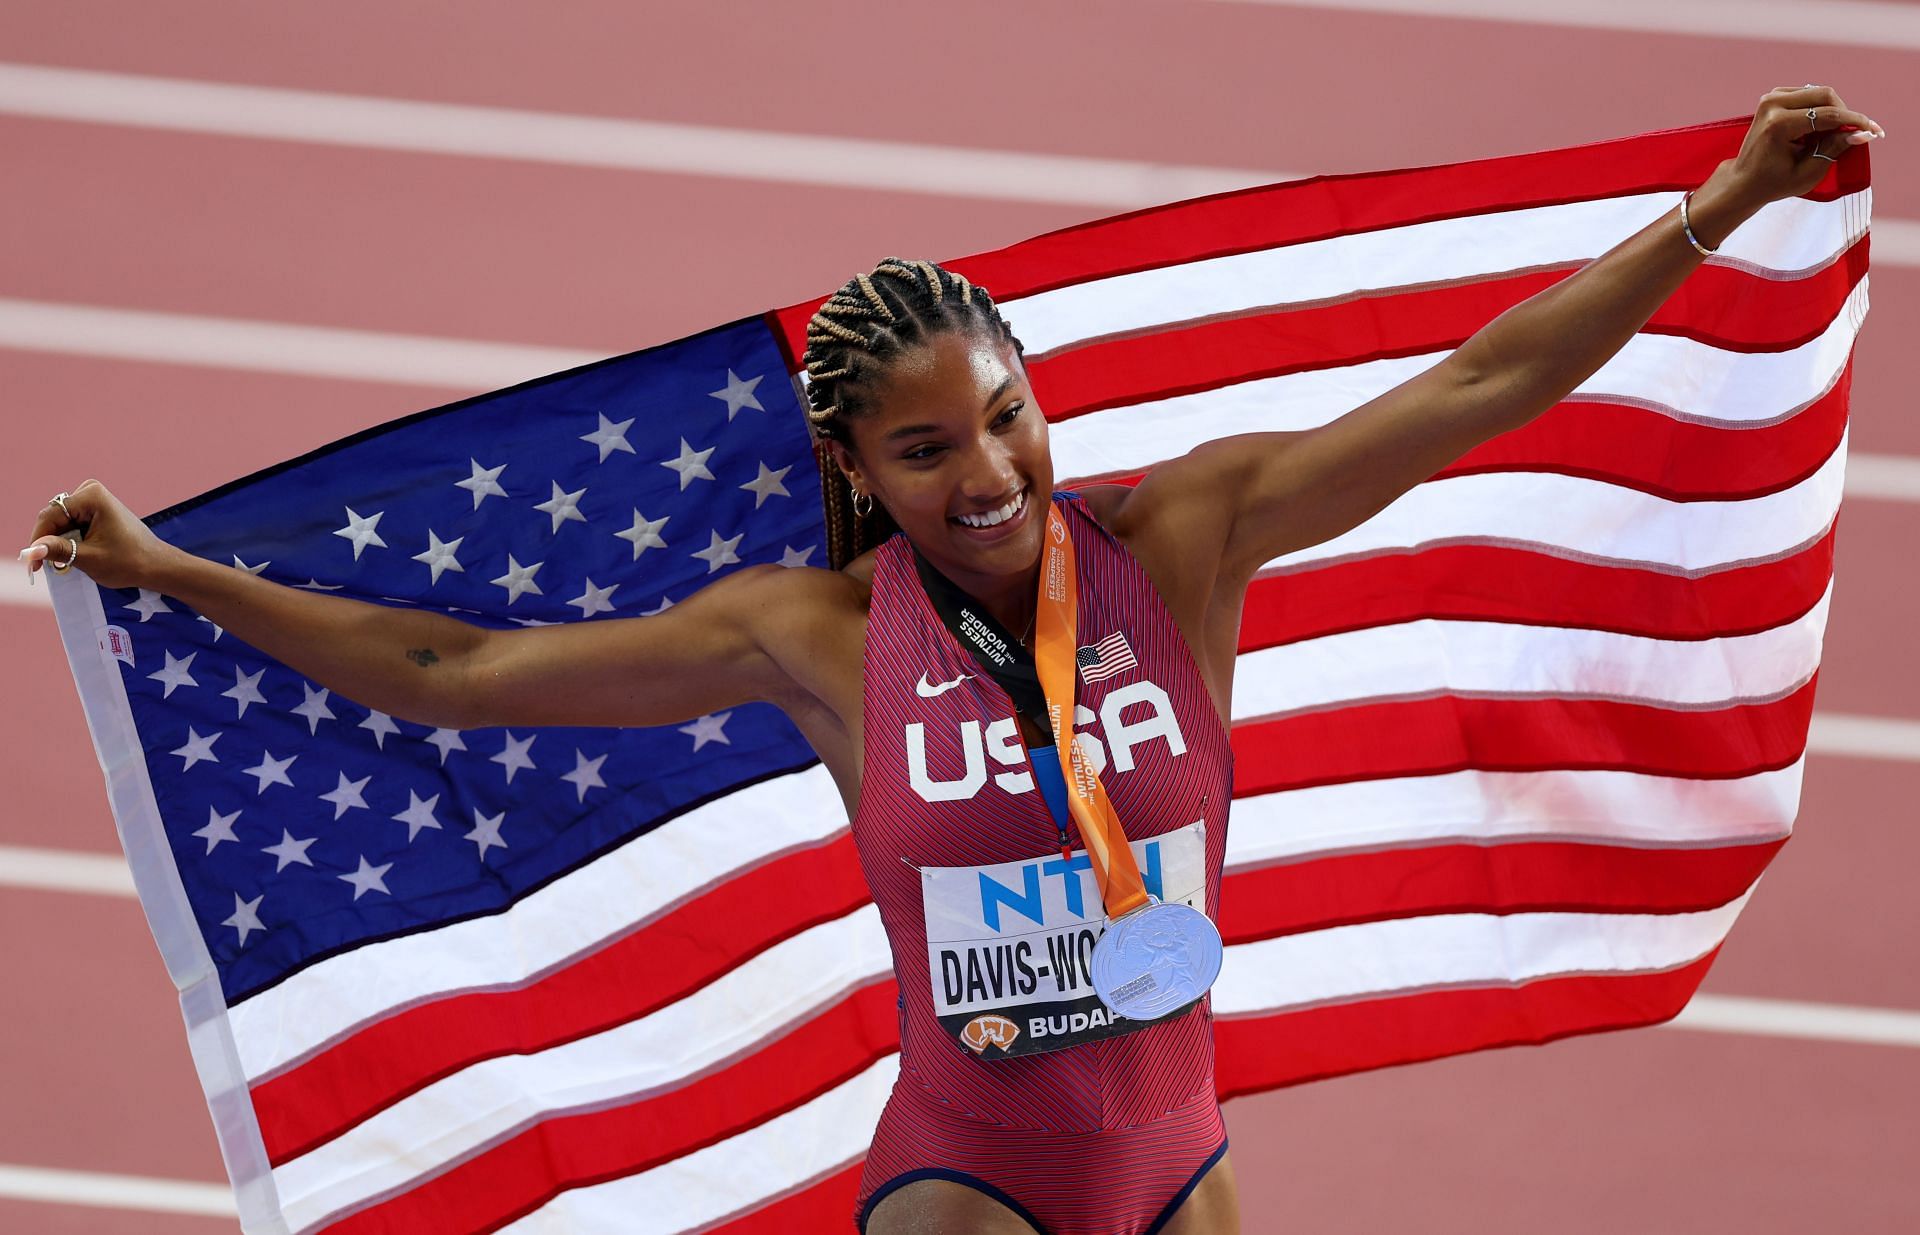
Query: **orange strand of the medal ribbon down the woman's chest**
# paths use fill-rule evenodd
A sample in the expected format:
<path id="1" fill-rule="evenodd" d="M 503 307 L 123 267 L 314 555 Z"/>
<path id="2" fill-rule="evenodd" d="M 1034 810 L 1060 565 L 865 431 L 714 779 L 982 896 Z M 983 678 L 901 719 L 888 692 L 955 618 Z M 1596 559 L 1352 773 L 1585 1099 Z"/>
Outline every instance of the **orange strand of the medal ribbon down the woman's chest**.
<path id="1" fill-rule="evenodd" d="M 1092 878 L 1100 885 L 1106 916 L 1119 918 L 1146 905 L 1146 885 L 1133 860 L 1127 830 L 1119 826 L 1106 786 L 1087 763 L 1081 745 L 1073 741 L 1073 672 L 1075 630 L 1079 622 L 1079 588 L 1073 574 L 1073 538 L 1060 517 L 1060 505 L 1046 507 L 1046 536 L 1041 544 L 1041 595 L 1035 611 L 1033 659 L 1041 690 L 1046 691 L 1046 714 L 1054 728 L 1054 747 L 1068 782 L 1068 809 L 1087 841 Z"/>

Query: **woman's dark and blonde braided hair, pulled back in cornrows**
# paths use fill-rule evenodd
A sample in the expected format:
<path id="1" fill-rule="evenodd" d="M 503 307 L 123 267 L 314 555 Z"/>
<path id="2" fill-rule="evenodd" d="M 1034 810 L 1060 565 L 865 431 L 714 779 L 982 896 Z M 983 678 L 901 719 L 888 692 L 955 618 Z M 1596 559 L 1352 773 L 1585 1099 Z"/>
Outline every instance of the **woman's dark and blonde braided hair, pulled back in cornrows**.
<path id="1" fill-rule="evenodd" d="M 831 569 L 839 570 L 899 528 L 879 505 L 866 515 L 854 513 L 852 492 L 828 444 L 852 446 L 849 421 L 874 411 L 874 386 L 900 353 L 960 330 L 1010 342 L 1023 353 L 987 288 L 931 261 L 900 257 L 849 278 L 806 323 L 806 421 L 814 430 Z"/>

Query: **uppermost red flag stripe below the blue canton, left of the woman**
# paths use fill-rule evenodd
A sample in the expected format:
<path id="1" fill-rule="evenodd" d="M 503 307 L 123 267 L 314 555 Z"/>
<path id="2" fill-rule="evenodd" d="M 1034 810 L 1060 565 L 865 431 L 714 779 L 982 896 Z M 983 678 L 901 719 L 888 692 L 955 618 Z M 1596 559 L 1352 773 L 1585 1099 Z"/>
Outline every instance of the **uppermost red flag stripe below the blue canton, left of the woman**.
<path id="1" fill-rule="evenodd" d="M 453 995 L 378 1020 L 253 1085 L 278 1166 L 461 1068 L 611 1029 L 868 903 L 852 837 L 737 872 L 645 928 L 524 987 Z"/>

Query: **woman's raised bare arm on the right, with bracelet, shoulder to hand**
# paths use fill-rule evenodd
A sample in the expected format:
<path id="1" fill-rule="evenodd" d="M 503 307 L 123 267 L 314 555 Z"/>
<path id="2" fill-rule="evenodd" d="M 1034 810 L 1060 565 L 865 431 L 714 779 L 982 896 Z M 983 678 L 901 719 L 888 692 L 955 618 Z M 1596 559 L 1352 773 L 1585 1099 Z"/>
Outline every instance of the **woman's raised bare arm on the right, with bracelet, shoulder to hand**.
<path id="1" fill-rule="evenodd" d="M 1812 131 L 1822 134 L 1812 142 L 1809 109 Z M 1882 134 L 1826 86 L 1770 90 L 1740 154 L 1693 192 L 1693 236 L 1718 248 L 1768 202 L 1818 184 L 1832 165 L 1828 157 Z M 1127 499 L 1127 513 L 1165 530 L 1208 524 L 1192 532 L 1223 536 L 1221 576 L 1252 578 L 1283 553 L 1359 526 L 1473 448 L 1559 403 L 1699 263 L 1674 209 L 1513 305 L 1432 369 L 1338 421 L 1304 432 L 1223 438 L 1154 469 Z M 1225 503 L 1221 496 L 1229 496 Z M 1185 542 L 1192 545 L 1194 538 Z"/>

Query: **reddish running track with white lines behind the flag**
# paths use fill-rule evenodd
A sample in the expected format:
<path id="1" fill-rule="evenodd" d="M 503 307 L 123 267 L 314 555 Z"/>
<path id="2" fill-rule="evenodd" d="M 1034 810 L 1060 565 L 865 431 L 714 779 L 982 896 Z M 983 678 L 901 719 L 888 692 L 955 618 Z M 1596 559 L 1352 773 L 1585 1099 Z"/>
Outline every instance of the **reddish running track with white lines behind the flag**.
<path id="1" fill-rule="evenodd" d="M 1676 1028 L 1227 1112 L 1254 1233 L 1920 1229 L 1920 355 L 1903 342 L 1920 334 L 1920 6 L 639 8 L 0 6 L 15 530 L 86 474 L 157 509 L 572 355 L 801 300 L 885 254 L 958 255 L 1236 181 L 1693 123 L 1774 85 L 1834 83 L 1889 133 L 1839 588 L 1799 837 L 1711 997 Z M 1530 8 L 1553 21 L 1513 19 Z M 338 96 L 384 102 L 353 127 Z M 0 584 L 0 1229 L 234 1231 L 40 595 Z"/>

